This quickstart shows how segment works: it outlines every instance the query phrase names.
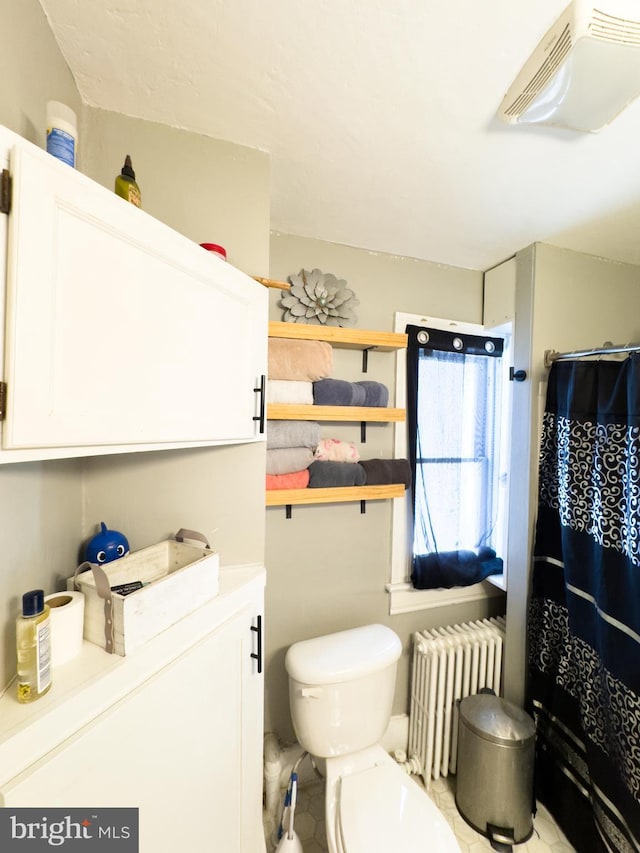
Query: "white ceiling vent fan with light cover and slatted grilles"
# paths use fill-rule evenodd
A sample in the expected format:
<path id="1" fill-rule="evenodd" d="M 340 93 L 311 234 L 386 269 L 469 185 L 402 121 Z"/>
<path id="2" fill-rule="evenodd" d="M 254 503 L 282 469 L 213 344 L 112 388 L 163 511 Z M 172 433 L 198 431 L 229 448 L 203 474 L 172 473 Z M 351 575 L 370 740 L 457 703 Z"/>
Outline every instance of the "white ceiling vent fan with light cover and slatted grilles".
<path id="1" fill-rule="evenodd" d="M 573 0 L 505 95 L 510 124 L 598 131 L 640 94 L 638 0 Z"/>

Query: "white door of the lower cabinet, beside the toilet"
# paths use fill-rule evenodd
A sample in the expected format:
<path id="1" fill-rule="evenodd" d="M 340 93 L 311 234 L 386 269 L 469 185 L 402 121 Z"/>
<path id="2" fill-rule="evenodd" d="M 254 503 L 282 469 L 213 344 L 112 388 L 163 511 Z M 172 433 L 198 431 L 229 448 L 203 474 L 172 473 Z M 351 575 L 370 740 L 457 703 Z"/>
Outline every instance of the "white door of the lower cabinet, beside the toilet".
<path id="1" fill-rule="evenodd" d="M 9 807 L 139 809 L 140 853 L 259 853 L 262 676 L 243 611 L 0 791 Z"/>

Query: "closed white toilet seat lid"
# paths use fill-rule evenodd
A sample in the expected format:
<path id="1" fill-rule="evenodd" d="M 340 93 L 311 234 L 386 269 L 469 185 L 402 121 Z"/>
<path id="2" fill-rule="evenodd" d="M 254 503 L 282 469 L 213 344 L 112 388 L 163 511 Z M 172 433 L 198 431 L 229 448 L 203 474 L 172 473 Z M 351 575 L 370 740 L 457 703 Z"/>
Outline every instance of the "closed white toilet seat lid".
<path id="1" fill-rule="evenodd" d="M 444 815 L 402 768 L 380 764 L 340 781 L 339 826 L 347 853 L 459 853 Z"/>

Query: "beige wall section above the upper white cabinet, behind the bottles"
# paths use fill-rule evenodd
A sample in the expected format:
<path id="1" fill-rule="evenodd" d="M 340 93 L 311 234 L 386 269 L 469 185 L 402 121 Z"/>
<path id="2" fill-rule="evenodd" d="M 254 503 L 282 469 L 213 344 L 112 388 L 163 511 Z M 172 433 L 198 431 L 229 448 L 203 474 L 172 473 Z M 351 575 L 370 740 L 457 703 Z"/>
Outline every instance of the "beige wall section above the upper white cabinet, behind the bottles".
<path id="1" fill-rule="evenodd" d="M 144 210 L 196 243 L 224 246 L 249 275 L 268 275 L 267 154 L 91 107 L 85 137 L 87 175 L 112 190 L 130 154 Z"/>

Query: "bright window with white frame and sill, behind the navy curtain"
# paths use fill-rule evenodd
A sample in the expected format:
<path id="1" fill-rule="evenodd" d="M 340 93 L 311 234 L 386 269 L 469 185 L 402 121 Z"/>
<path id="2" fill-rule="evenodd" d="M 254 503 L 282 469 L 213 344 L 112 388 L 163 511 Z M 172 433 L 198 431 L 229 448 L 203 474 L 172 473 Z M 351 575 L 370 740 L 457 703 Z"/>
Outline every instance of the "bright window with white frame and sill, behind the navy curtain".
<path id="1" fill-rule="evenodd" d="M 442 319 L 438 317 L 424 317 L 416 314 L 397 313 L 395 322 L 395 331 L 404 332 L 407 326 L 423 326 L 428 329 L 437 329 L 447 332 L 452 332 L 456 336 L 476 335 L 485 336 L 484 328 L 476 323 L 465 323 L 462 321 Z M 493 408 L 489 406 L 491 395 L 481 397 L 482 404 L 476 402 L 478 406 L 480 421 L 484 424 L 483 429 L 478 430 L 476 419 L 469 420 L 465 418 L 465 426 L 468 427 L 466 433 L 466 449 L 452 452 L 442 452 L 433 449 L 430 452 L 417 453 L 417 444 L 414 448 L 416 459 L 430 460 L 426 463 L 427 466 L 434 471 L 440 469 L 440 477 L 443 472 L 451 479 L 451 470 L 446 472 L 448 467 L 443 460 L 451 458 L 465 460 L 458 464 L 460 474 L 459 482 L 463 488 L 459 490 L 462 495 L 462 502 L 459 500 L 448 501 L 451 489 L 448 485 L 442 485 L 439 489 L 439 499 L 435 501 L 434 512 L 436 516 L 442 518 L 443 515 L 449 517 L 445 511 L 445 507 L 453 504 L 455 507 L 456 517 L 461 516 L 464 525 L 468 526 L 469 518 L 474 518 L 474 524 L 470 530 L 474 533 L 471 537 L 472 543 L 477 543 L 480 540 L 479 529 L 481 526 L 485 530 L 489 530 L 490 537 L 485 538 L 487 547 L 493 548 L 498 556 L 504 557 L 507 551 L 507 502 L 508 502 L 508 461 L 510 455 L 510 419 L 511 419 L 511 385 L 508 381 L 508 364 L 510 362 L 510 346 L 511 346 L 511 324 L 505 323 L 499 328 L 492 329 L 491 335 L 499 337 L 503 340 L 502 357 L 491 359 L 483 358 L 480 361 L 479 370 L 476 371 L 475 378 L 469 380 L 466 385 L 467 397 L 478 401 L 478 392 L 480 389 L 493 387 Z M 455 350 L 454 350 L 455 352 Z M 431 366 L 436 362 L 429 362 L 429 365 L 423 365 L 425 371 L 430 370 Z M 401 350 L 397 355 L 396 365 L 396 406 L 407 409 L 407 418 L 411 416 L 411 407 L 407 399 L 407 352 Z M 484 365 L 484 367 L 483 367 Z M 451 365 L 448 365 L 450 367 Z M 492 380 L 488 376 L 482 376 L 482 370 L 494 369 L 496 375 Z M 426 375 L 426 374 L 425 374 Z M 441 374 L 441 389 L 449 390 L 452 383 L 448 379 L 442 379 Z M 471 375 L 471 374 L 470 374 Z M 425 378 L 425 382 L 430 381 Z M 493 383 L 493 385 L 492 385 Z M 474 392 L 472 393 L 472 390 Z M 443 399 L 443 394 L 439 395 Z M 426 398 L 425 398 L 426 400 Z M 425 406 L 430 407 L 432 403 L 425 402 Z M 484 405 L 484 408 L 483 408 Z M 440 404 L 442 408 L 442 404 Z M 417 407 L 416 407 L 417 415 Z M 460 409 L 454 408 L 454 415 L 459 417 Z M 446 418 L 431 418 L 429 425 L 432 429 L 440 430 L 441 436 L 447 435 Z M 464 434 L 464 433 L 463 433 Z M 411 458 L 410 447 L 408 443 L 408 425 L 398 424 L 395 430 L 395 448 L 396 457 Z M 463 445 L 464 447 L 464 445 Z M 472 452 L 468 452 L 469 448 Z M 491 477 L 487 475 L 487 464 L 485 458 L 493 456 L 494 473 Z M 439 459 L 439 462 L 435 460 Z M 431 461 L 433 460 L 433 461 Z M 482 461 L 481 461 L 482 460 Z M 455 466 L 454 466 L 455 467 Z M 489 485 L 491 484 L 491 489 Z M 470 506 L 475 505 L 481 507 L 481 512 L 471 513 Z M 460 511 L 462 507 L 462 511 Z M 475 522 L 476 517 L 480 519 Z M 484 519 L 484 521 L 483 521 Z M 487 525 L 487 519 L 491 519 Z M 427 525 L 429 523 L 427 516 Z M 437 543 L 440 550 L 456 551 L 466 550 L 462 546 L 466 545 L 466 540 L 459 537 L 458 533 L 454 533 L 457 522 L 449 524 L 450 532 L 445 535 L 442 543 Z M 413 553 L 414 540 L 416 543 L 425 542 L 425 536 L 421 531 L 416 531 L 414 535 L 414 517 L 413 503 L 410 497 L 405 501 L 394 501 L 393 505 L 393 533 L 392 533 L 392 557 L 391 557 L 391 577 L 387 585 L 387 591 L 390 593 L 389 612 L 390 614 L 408 613 L 416 610 L 424 610 L 430 607 L 442 607 L 449 604 L 461 604 L 468 601 L 487 598 L 494 595 L 502 595 L 506 586 L 506 571 L 503 575 L 490 575 L 488 580 L 483 583 L 475 583 L 469 586 L 454 586 L 451 588 L 433 588 L 433 589 L 416 589 L 411 582 L 413 572 Z M 428 531 L 427 531 L 428 532 Z M 422 537 L 422 539 L 420 538 Z M 428 540 L 426 540 L 428 541 Z M 460 547 L 457 547 L 460 546 Z M 421 550 L 421 545 L 416 545 L 417 551 Z M 469 548 L 469 550 L 474 550 Z M 429 553 L 425 550 L 424 553 Z"/>

